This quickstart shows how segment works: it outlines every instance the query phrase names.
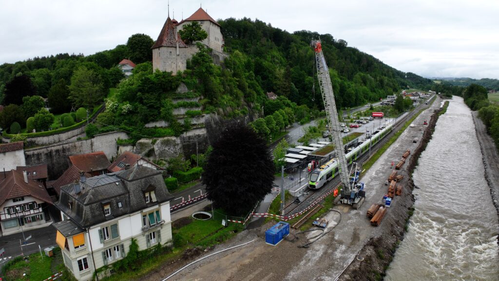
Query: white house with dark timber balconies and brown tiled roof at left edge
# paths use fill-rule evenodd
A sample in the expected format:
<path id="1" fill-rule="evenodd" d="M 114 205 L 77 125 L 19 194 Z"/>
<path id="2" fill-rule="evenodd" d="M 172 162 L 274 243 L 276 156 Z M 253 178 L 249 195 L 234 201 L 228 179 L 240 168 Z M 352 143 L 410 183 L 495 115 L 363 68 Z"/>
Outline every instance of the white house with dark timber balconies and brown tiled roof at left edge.
<path id="1" fill-rule="evenodd" d="M 2 171 L 3 175 L 3 171 Z M 52 200 L 41 182 L 10 170 L 0 179 L 1 234 L 8 235 L 52 223 L 48 205 Z"/>

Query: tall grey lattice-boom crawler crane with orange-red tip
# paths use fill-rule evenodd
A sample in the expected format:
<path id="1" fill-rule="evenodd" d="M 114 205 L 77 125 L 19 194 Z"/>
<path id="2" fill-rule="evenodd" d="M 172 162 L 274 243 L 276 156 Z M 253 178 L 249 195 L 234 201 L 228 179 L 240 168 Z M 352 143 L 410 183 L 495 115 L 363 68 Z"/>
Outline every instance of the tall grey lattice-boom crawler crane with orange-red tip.
<path id="1" fill-rule="evenodd" d="M 339 166 L 340 180 L 343 185 L 341 189 L 340 202 L 352 205 L 354 208 L 359 208 L 364 202 L 365 191 L 364 183 L 357 182 L 360 171 L 357 170 L 357 163 L 352 164 L 352 170 L 348 173 L 348 164 L 343 149 L 343 139 L 341 137 L 340 123 L 336 103 L 334 101 L 333 87 L 331 85 L 331 77 L 327 68 L 326 59 L 322 53 L 322 45 L 320 40 L 312 40 L 311 46 L 315 50 L 315 62 L 317 66 L 317 78 L 319 87 L 322 93 L 322 101 L 324 102 L 324 111 L 326 112 L 329 130 L 334 141 L 334 149 L 336 151 L 336 161 Z M 353 178 L 349 180 L 349 175 Z M 334 171 L 333 171 L 334 172 Z"/>

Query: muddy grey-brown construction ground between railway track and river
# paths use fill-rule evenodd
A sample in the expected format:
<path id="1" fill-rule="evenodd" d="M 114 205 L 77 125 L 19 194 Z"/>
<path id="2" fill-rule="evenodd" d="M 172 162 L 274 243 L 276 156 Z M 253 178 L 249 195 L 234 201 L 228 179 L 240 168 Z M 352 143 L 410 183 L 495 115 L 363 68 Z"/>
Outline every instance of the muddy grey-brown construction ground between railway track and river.
<path id="1" fill-rule="evenodd" d="M 204 255 L 254 239 L 250 244 L 206 258 L 169 280 L 335 280 L 358 256 L 359 251 L 366 248 L 365 245 L 376 244 L 379 246 L 384 243 L 383 252 L 372 253 L 372 256 L 385 255 L 386 251 L 388 257 L 390 253 L 387 249 L 392 248 L 391 245 L 395 244 L 397 238 L 392 237 L 392 234 L 389 234 L 389 237 L 383 237 L 383 239 L 380 237 L 388 236 L 386 235 L 388 233 L 403 234 L 405 217 L 413 203 L 412 183 L 405 167 L 399 171 L 405 176 L 402 181 L 404 185 L 402 195 L 395 197 L 393 205 L 388 209 L 381 225 L 371 226 L 366 217 L 366 211 L 371 204 L 381 203 L 388 188 L 384 182 L 392 171 L 391 162 L 397 163 L 406 149 L 409 148 L 413 151 L 417 147 L 419 142 L 413 143 L 412 140 L 414 137 L 422 138 L 423 131 L 427 127 L 423 125 L 423 121 L 430 120 L 434 109 L 439 106 L 440 100 L 437 100 L 429 109 L 422 112 L 369 171 L 362 175 L 361 181 L 366 183 L 366 201 L 363 205 L 358 210 L 352 209 L 348 205 L 335 205 L 333 209 L 341 213 L 341 218 L 337 212 L 326 214 L 331 221 L 326 232 L 331 231 L 308 248 L 299 247 L 306 241 L 305 234 L 298 234 L 296 235 L 298 239 L 289 241 L 295 236 L 294 229 L 291 229 L 291 235 L 278 245 L 266 244 L 264 233 L 271 226 L 271 224 L 266 224 L 243 231 L 234 239 L 218 245 Z M 406 162 L 405 166 L 407 165 Z M 335 225 L 336 223 L 337 225 Z M 307 236 L 314 236 L 314 234 L 309 233 Z M 367 257 L 364 259 L 364 263 L 368 262 L 370 255 L 363 256 Z M 146 279 L 161 280 L 186 263 L 187 261 L 177 261 L 165 265 Z M 372 269 L 369 268 L 369 270 Z M 376 271 L 383 272 L 384 269 L 378 268 Z M 376 277 L 376 273 L 372 272 L 370 276 Z M 357 279 L 357 277 L 344 274 L 341 279 Z M 370 278 L 367 278 L 366 275 L 361 279 Z"/>

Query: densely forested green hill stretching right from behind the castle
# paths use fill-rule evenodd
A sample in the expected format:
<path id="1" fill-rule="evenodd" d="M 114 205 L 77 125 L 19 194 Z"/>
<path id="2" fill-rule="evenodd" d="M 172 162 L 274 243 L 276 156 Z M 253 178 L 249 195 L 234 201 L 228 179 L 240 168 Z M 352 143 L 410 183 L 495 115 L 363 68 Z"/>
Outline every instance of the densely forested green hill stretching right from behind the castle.
<path id="1" fill-rule="evenodd" d="M 306 30 L 289 33 L 249 18 L 228 18 L 219 23 L 227 50 L 239 50 L 251 58 L 245 67 L 254 73 L 262 89 L 298 104 L 322 107 L 319 88 L 315 87 L 315 93 L 313 90 L 315 58 L 310 47 L 311 40 L 319 37 L 339 106 L 355 106 L 402 88 L 429 88 L 432 84 L 430 79 L 399 71 L 330 34 Z"/>

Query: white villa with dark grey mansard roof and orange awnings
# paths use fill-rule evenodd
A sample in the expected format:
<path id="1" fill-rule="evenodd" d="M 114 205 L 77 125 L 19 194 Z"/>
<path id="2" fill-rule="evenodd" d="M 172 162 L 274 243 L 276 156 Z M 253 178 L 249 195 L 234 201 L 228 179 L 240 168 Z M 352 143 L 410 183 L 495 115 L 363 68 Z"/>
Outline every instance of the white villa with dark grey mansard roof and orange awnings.
<path id="1" fill-rule="evenodd" d="M 81 173 L 61 187 L 55 203 L 63 218 L 53 225 L 64 264 L 76 279 L 90 280 L 96 269 L 125 257 L 132 238 L 140 250 L 171 243 L 171 199 L 161 171 L 150 167 L 89 178 Z"/>

